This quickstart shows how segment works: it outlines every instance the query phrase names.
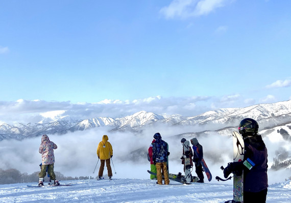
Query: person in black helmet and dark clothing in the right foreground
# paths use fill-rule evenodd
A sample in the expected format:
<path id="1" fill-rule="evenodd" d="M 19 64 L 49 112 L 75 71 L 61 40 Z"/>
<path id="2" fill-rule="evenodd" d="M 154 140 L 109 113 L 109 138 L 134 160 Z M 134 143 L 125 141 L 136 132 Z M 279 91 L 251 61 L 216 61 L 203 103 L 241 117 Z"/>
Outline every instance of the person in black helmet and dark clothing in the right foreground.
<path id="1" fill-rule="evenodd" d="M 233 171 L 244 170 L 245 203 L 265 203 L 268 192 L 268 151 L 261 135 L 258 135 L 258 129 L 258 123 L 253 119 L 247 118 L 240 122 L 238 132 L 244 138 L 244 160 L 230 163 L 224 169 L 225 177 Z M 253 167 L 247 164 L 250 161 L 253 162 Z"/>

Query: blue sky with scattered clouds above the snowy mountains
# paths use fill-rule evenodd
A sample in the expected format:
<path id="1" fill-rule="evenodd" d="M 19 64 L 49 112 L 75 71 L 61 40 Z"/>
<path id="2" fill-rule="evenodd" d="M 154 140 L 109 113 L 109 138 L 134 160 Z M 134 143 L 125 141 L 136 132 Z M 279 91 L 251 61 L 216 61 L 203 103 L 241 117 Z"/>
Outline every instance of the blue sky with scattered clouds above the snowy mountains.
<path id="1" fill-rule="evenodd" d="M 0 109 L 118 103 L 114 116 L 129 105 L 195 115 L 289 100 L 289 8 L 274 0 L 1 1 Z"/>

